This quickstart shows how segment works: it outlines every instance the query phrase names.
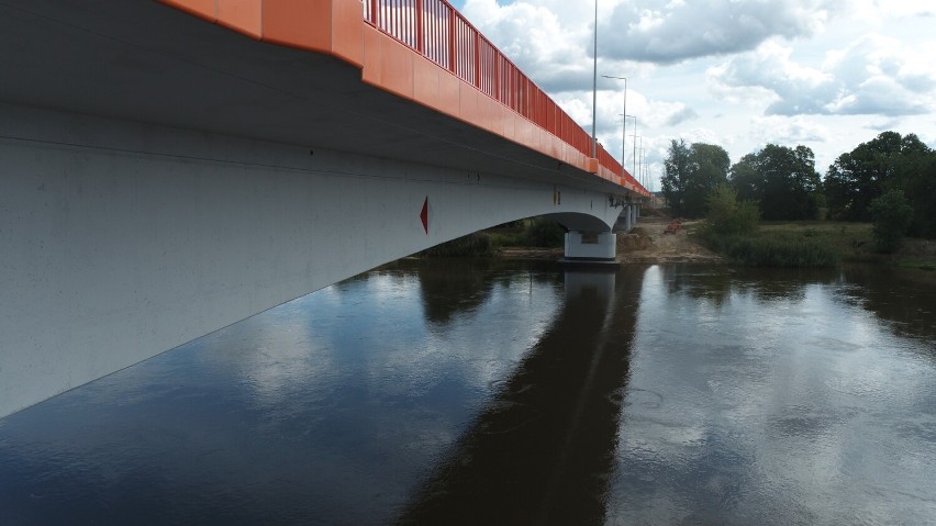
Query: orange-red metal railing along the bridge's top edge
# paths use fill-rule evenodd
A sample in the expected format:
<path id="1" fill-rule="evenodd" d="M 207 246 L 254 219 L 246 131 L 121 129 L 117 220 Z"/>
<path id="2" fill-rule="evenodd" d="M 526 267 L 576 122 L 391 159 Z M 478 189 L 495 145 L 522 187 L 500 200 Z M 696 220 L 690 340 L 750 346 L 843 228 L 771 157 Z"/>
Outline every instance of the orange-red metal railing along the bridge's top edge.
<path id="1" fill-rule="evenodd" d="M 364 0 L 370 25 L 416 51 L 586 156 L 591 136 L 446 0 Z M 636 186 L 599 145 L 599 164 Z"/>

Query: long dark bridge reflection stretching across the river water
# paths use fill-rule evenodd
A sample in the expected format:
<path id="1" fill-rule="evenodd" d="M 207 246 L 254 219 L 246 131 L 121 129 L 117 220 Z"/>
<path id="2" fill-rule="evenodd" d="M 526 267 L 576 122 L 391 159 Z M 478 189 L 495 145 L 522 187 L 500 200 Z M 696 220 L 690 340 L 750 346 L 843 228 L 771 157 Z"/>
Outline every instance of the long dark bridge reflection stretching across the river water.
<path id="1" fill-rule="evenodd" d="M 566 302 L 398 524 L 601 524 L 640 271 L 565 275 Z"/>

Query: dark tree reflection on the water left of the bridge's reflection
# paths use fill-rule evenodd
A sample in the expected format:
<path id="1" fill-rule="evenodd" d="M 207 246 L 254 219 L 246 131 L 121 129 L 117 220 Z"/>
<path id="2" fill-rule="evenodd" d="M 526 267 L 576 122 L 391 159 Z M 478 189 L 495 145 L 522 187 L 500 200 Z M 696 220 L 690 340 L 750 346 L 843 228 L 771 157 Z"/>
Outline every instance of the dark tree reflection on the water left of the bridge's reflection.
<path id="1" fill-rule="evenodd" d="M 491 295 L 497 284 L 510 286 L 512 280 L 523 279 L 513 265 L 511 272 L 500 272 L 497 260 L 469 260 L 459 258 L 423 259 L 416 262 L 420 276 L 420 293 L 426 320 L 430 323 L 447 324 L 459 312 L 477 309 Z M 543 264 L 530 262 L 528 279 L 541 281 Z M 555 276 L 554 271 L 549 276 Z"/>

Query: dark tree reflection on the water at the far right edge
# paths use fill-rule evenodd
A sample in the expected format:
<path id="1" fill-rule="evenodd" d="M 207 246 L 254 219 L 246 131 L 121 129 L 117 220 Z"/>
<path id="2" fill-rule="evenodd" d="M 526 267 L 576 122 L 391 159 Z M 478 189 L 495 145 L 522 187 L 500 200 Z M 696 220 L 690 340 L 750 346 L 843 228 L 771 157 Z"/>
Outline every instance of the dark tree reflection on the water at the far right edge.
<path id="1" fill-rule="evenodd" d="M 846 268 L 844 275 L 858 286 L 847 293 L 889 322 L 894 333 L 936 340 L 936 276 L 932 272 L 855 266 Z M 929 349 L 936 357 L 936 346 Z"/>

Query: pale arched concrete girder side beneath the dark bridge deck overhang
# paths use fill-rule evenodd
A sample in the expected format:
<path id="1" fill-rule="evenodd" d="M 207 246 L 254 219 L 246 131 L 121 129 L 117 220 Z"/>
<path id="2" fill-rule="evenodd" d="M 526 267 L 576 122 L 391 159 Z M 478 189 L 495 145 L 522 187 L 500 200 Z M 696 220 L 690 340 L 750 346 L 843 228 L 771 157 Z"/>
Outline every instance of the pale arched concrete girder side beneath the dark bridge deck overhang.
<path id="1" fill-rule="evenodd" d="M 555 181 L 4 103 L 0 175 L 0 416 L 484 227 L 620 212 Z"/>

